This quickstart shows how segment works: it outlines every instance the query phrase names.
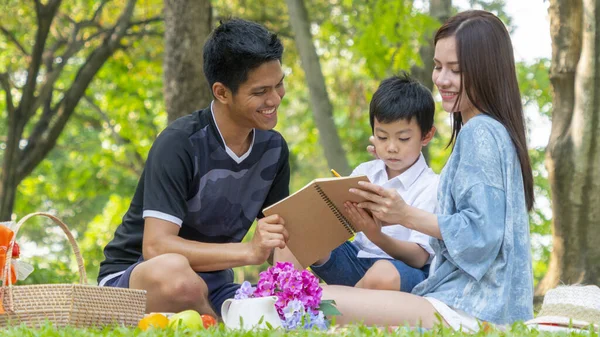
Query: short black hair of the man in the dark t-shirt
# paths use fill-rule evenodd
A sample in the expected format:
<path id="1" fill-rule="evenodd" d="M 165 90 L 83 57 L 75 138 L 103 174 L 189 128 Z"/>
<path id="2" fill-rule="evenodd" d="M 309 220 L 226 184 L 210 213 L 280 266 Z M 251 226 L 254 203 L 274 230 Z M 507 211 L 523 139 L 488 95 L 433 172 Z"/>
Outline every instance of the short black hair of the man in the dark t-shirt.
<path id="1" fill-rule="evenodd" d="M 283 45 L 265 27 L 242 19 L 221 21 L 204 44 L 204 76 L 212 88 L 221 82 L 235 95 L 248 73 L 265 62 L 281 62 Z"/>

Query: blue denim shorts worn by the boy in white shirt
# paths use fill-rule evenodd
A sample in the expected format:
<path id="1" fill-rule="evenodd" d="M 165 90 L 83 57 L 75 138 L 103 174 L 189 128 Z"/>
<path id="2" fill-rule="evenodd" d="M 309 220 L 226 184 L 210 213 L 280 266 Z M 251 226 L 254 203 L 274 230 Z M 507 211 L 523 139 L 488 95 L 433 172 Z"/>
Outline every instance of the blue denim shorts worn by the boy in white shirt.
<path id="1" fill-rule="evenodd" d="M 327 284 L 354 286 L 375 262 L 389 261 L 400 273 L 400 291 L 411 292 L 412 289 L 429 275 L 429 265 L 421 269 L 408 266 L 406 263 L 384 258 L 359 258 L 358 248 L 350 241 L 331 252 L 329 260 L 319 266 L 310 266 L 310 269 Z"/>

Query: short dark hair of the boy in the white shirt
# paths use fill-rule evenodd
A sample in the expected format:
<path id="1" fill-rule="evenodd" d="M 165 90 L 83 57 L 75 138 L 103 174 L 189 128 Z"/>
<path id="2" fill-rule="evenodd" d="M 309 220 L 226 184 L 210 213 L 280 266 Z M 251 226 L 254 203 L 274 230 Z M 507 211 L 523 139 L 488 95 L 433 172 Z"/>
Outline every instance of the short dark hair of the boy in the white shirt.
<path id="1" fill-rule="evenodd" d="M 411 78 L 406 72 L 381 82 L 369 106 L 371 131 L 375 119 L 379 123 L 416 118 L 422 137 L 433 127 L 435 103 L 431 91 Z"/>

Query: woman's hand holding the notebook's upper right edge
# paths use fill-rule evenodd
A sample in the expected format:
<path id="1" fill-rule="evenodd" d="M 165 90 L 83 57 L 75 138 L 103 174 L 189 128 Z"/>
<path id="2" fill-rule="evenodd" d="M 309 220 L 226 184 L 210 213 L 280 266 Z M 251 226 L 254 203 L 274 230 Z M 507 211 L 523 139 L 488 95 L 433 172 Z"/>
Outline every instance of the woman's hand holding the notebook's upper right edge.
<path id="1" fill-rule="evenodd" d="M 360 188 L 352 188 L 350 192 L 367 199 L 359 203 L 358 207 L 371 211 L 374 219 L 406 227 L 404 218 L 410 206 L 400 197 L 398 191 L 364 181 L 358 184 Z"/>

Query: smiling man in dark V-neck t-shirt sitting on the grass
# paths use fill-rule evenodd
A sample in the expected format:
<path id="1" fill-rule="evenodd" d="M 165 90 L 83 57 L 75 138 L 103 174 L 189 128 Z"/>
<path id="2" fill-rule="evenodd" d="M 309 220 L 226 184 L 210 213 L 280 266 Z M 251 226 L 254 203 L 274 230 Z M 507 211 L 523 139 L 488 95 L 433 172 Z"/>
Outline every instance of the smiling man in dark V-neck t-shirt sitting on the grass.
<path id="1" fill-rule="evenodd" d="M 231 268 L 264 263 L 287 231 L 261 210 L 289 194 L 288 148 L 272 128 L 285 95 L 283 46 L 264 27 L 223 22 L 204 46 L 211 106 L 154 142 L 129 210 L 104 249 L 102 286 L 147 291 L 148 312 L 220 315 Z M 259 218 L 252 240 L 241 243 Z"/>

